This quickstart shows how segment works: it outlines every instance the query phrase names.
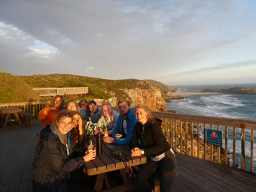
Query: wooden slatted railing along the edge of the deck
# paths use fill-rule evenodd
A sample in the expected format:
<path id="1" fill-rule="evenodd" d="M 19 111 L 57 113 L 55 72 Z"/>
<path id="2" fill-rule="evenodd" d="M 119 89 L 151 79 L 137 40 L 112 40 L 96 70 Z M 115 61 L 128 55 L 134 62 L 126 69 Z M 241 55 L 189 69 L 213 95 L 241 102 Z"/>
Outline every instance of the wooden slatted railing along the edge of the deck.
<path id="1" fill-rule="evenodd" d="M 48 102 L 16 102 L 1 103 L 0 107 L 16 106 L 31 112 L 34 117 L 38 117 L 38 112 L 46 107 Z M 117 107 L 113 107 L 118 111 Z M 243 170 L 254 171 L 253 151 L 254 151 L 254 130 L 256 122 L 240 119 L 227 119 L 220 117 L 206 117 L 189 114 L 176 114 L 169 112 L 152 112 L 154 117 L 162 119 L 162 129 L 172 149 L 176 152 L 196 156 L 208 161 L 228 165 L 228 154 L 233 158 L 233 167 L 240 166 Z M 221 153 L 220 146 L 213 146 L 206 143 L 206 129 L 223 131 L 224 152 Z M 241 135 L 240 135 L 240 134 Z M 232 139 L 232 146 L 228 145 L 228 137 Z M 250 147 L 245 146 L 245 137 L 250 137 Z M 239 139 L 238 139 L 239 138 Z M 238 144 L 241 145 L 241 161 L 236 161 L 238 154 Z M 228 151 L 228 149 L 231 149 Z M 245 151 L 250 151 L 250 156 L 245 156 Z M 215 153 L 214 153 L 215 151 Z M 221 158 L 222 157 L 222 158 Z M 224 159 L 223 162 L 220 160 Z M 245 166 L 245 161 L 250 161 L 250 169 Z"/>

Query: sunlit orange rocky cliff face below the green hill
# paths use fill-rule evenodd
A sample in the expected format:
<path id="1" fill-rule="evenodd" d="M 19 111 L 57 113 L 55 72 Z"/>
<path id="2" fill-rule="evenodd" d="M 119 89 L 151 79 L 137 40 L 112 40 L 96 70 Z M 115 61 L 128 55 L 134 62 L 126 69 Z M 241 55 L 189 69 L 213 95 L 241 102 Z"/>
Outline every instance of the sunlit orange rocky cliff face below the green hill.
<path id="1" fill-rule="evenodd" d="M 164 98 L 161 97 L 160 88 L 154 87 L 144 80 L 139 83 L 146 86 L 146 88 L 122 89 L 122 91 L 128 95 L 132 104 L 144 103 L 149 106 L 151 110 L 166 112 L 166 102 Z"/>

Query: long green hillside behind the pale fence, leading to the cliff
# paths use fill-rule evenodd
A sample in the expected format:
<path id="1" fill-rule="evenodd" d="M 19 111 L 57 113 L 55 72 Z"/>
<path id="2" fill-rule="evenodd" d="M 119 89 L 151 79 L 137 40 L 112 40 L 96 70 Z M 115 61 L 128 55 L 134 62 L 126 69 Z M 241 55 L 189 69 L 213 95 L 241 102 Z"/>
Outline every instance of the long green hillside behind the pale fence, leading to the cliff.
<path id="1" fill-rule="evenodd" d="M 146 88 L 139 84 L 140 80 L 106 80 L 100 78 L 90 78 L 80 75 L 50 74 L 50 75 L 29 75 L 20 76 L 31 87 L 89 87 L 89 94 L 79 99 L 92 100 L 94 98 L 108 99 L 115 94 L 117 99 L 128 97 L 120 89 Z M 69 97 L 67 95 L 67 97 Z M 75 99 L 70 96 L 68 99 Z"/>

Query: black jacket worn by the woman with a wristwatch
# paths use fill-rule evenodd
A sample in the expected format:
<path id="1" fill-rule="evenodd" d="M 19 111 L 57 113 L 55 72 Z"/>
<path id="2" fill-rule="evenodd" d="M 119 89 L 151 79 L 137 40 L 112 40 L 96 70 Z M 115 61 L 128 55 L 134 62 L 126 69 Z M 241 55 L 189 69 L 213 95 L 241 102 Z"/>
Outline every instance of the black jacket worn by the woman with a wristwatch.
<path id="1" fill-rule="evenodd" d="M 137 146 L 138 139 L 142 142 L 145 154 L 151 156 L 159 156 L 171 149 L 161 130 L 161 119 L 154 118 L 154 124 L 146 122 L 144 126 L 137 122 L 131 140 L 132 149 Z"/>

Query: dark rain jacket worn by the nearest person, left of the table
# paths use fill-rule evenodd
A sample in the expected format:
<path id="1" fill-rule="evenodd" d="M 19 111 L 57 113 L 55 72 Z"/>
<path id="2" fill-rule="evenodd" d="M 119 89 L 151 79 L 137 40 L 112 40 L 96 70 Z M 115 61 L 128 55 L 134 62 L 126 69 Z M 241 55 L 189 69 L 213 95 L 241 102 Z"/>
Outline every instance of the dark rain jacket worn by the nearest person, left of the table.
<path id="1" fill-rule="evenodd" d="M 50 126 L 41 130 L 40 138 L 33 163 L 33 191 L 66 191 L 68 173 L 79 169 L 85 161 L 82 156 L 70 159 L 66 146 Z M 71 144 L 74 150 L 79 149 L 74 142 Z"/>

